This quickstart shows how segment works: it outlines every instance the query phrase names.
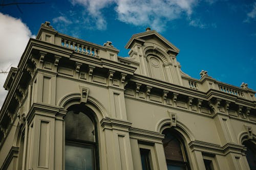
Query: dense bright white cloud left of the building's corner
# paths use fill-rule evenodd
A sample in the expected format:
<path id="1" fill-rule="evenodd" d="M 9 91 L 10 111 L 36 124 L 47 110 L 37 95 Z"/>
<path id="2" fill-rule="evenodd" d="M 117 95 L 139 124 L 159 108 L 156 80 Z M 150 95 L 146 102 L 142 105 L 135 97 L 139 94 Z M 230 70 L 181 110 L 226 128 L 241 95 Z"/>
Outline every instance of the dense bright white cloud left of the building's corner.
<path id="1" fill-rule="evenodd" d="M 0 13 L 0 23 L 0 70 L 8 71 L 10 65 L 17 67 L 27 42 L 33 35 L 20 19 Z M 3 88 L 6 77 L 7 74 L 0 74 L 0 108 L 7 94 Z"/>

